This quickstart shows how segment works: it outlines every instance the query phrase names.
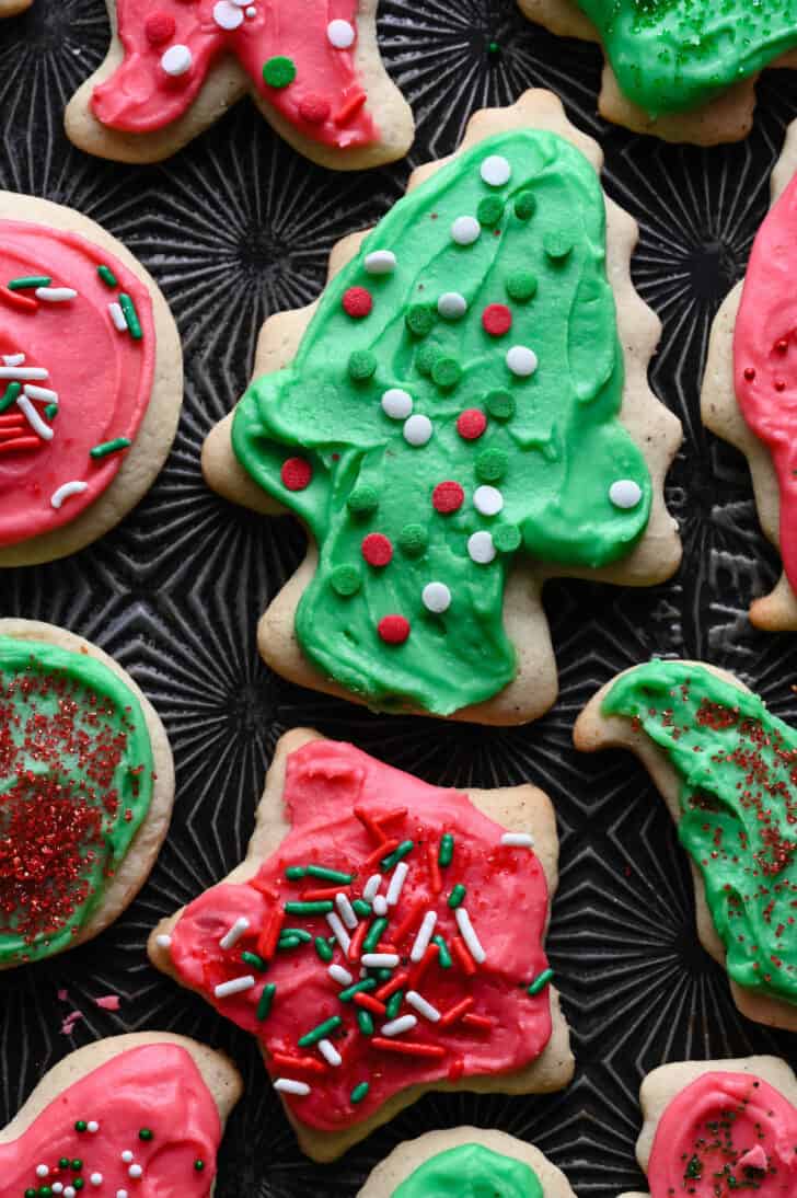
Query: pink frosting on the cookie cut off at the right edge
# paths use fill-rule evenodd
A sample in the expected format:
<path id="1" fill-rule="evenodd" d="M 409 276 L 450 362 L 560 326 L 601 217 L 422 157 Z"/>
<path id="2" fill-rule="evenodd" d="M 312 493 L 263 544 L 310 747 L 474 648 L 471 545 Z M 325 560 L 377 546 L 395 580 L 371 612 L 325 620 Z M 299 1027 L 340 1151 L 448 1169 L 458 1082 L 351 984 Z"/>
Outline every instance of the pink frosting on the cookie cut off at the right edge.
<path id="1" fill-rule="evenodd" d="M 772 454 L 780 488 L 780 553 L 797 592 L 797 176 L 753 246 L 733 334 L 744 419 Z"/>

